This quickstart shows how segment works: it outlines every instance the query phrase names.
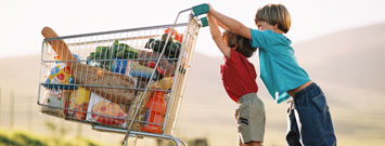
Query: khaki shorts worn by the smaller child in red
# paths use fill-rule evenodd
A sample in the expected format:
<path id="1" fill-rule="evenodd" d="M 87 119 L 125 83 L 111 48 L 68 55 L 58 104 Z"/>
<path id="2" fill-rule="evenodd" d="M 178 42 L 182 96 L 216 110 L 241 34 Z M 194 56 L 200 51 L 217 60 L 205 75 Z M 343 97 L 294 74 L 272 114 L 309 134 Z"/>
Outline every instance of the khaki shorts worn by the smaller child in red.
<path id="1" fill-rule="evenodd" d="M 243 95 L 239 103 L 235 119 L 240 142 L 264 142 L 266 116 L 262 101 L 256 93 L 249 93 Z"/>

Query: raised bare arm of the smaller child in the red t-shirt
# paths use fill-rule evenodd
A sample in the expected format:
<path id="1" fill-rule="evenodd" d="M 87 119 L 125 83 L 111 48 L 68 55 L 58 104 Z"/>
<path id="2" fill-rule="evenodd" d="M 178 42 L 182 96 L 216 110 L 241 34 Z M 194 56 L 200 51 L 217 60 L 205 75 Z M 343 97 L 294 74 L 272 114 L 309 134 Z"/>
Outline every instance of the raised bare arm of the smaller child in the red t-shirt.
<path id="1" fill-rule="evenodd" d="M 213 40 L 215 41 L 219 50 L 222 52 L 222 54 L 226 57 L 230 57 L 230 48 L 222 40 L 222 36 L 221 32 L 219 31 L 216 18 L 213 15 L 207 14 L 207 21 L 208 21 L 208 26 L 210 28 Z"/>

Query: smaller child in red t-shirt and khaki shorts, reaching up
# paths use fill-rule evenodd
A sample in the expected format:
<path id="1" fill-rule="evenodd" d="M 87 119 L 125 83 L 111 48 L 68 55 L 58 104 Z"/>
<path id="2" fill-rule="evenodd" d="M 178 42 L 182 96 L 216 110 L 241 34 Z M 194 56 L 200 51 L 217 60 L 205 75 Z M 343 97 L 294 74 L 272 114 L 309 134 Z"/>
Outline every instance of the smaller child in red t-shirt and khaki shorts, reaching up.
<path id="1" fill-rule="evenodd" d="M 249 40 L 229 30 L 220 35 L 215 17 L 207 14 L 213 39 L 224 55 L 221 65 L 223 87 L 230 98 L 239 104 L 235 110 L 241 146 L 260 146 L 265 134 L 265 107 L 257 96 L 257 74 L 248 62 L 256 48 Z"/>

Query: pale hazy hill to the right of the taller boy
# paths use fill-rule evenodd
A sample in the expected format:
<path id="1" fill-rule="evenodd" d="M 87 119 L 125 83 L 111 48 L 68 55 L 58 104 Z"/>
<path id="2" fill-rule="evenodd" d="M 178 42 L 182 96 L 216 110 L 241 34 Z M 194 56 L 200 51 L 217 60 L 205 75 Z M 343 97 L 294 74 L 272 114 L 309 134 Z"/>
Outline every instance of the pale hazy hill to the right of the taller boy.
<path id="1" fill-rule="evenodd" d="M 385 91 L 385 24 L 295 44 L 298 61 L 320 80 Z"/>

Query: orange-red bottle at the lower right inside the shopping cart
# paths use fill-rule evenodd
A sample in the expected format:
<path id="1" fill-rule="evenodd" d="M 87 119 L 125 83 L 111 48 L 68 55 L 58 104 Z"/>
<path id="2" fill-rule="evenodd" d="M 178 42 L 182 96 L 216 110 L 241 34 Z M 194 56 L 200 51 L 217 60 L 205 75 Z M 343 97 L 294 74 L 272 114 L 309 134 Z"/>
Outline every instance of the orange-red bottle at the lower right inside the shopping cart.
<path id="1" fill-rule="evenodd" d="M 158 124 L 163 124 L 167 107 L 164 96 L 165 92 L 163 91 L 155 91 L 152 96 L 150 96 L 146 104 L 145 123 L 142 128 L 143 132 L 162 133 L 162 125 Z"/>

